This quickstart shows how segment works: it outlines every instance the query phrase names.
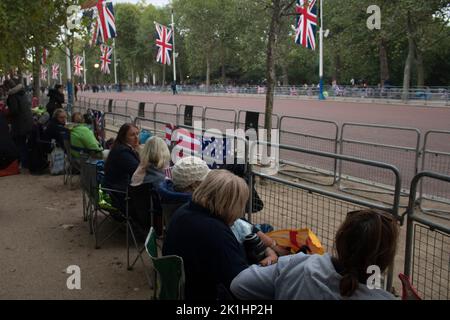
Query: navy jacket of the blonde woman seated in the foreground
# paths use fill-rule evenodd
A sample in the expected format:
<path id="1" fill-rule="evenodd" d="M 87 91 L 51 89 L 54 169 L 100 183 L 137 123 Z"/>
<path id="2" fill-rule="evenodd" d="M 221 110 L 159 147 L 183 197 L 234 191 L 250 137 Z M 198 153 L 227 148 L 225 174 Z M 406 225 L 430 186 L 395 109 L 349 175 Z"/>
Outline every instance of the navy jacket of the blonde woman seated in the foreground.
<path id="1" fill-rule="evenodd" d="M 184 260 L 187 300 L 217 300 L 223 288 L 248 267 L 245 252 L 229 226 L 193 203 L 173 216 L 163 255 Z"/>

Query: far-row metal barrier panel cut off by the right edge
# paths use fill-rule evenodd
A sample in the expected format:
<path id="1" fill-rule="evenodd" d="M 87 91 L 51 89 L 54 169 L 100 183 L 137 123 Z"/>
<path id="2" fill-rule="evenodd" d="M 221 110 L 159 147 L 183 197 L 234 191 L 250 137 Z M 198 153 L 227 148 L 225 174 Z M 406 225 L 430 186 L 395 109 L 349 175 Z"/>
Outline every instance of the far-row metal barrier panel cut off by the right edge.
<path id="1" fill-rule="evenodd" d="M 429 131 L 425 134 L 422 171 L 450 175 L 450 131 Z M 450 188 L 445 182 L 425 179 L 420 186 L 421 209 L 450 219 Z"/>

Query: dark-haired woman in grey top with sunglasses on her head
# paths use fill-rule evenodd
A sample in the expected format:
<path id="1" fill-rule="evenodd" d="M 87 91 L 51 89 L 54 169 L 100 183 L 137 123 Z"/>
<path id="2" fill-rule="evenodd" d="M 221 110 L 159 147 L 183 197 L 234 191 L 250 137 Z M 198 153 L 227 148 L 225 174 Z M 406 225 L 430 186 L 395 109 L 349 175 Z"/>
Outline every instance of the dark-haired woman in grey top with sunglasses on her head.
<path id="1" fill-rule="evenodd" d="M 370 267 L 381 273 L 394 262 L 397 221 L 378 210 L 347 214 L 335 238 L 335 254 L 280 257 L 269 267 L 253 265 L 232 282 L 242 300 L 385 300 L 395 297 L 368 286 Z"/>

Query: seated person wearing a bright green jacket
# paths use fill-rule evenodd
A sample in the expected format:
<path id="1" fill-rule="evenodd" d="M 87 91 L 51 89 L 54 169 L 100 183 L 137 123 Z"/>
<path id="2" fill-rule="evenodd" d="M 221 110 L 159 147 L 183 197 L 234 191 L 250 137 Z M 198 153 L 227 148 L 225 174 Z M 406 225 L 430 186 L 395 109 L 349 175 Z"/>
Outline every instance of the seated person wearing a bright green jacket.
<path id="1" fill-rule="evenodd" d="M 84 123 L 83 115 L 75 112 L 72 122 L 76 125 L 70 130 L 70 145 L 72 157 L 80 158 L 80 152 L 97 154 L 101 158 L 102 146 L 95 138 L 92 130 Z"/>

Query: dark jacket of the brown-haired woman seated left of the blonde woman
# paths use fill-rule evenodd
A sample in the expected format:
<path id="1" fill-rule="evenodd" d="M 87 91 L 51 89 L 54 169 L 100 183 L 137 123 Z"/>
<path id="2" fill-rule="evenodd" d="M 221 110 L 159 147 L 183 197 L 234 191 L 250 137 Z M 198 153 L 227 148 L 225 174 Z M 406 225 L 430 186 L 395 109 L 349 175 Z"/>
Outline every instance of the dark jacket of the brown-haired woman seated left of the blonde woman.
<path id="1" fill-rule="evenodd" d="M 105 188 L 125 191 L 139 166 L 139 154 L 128 145 L 119 144 L 109 153 L 105 163 Z"/>

